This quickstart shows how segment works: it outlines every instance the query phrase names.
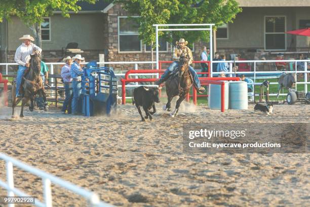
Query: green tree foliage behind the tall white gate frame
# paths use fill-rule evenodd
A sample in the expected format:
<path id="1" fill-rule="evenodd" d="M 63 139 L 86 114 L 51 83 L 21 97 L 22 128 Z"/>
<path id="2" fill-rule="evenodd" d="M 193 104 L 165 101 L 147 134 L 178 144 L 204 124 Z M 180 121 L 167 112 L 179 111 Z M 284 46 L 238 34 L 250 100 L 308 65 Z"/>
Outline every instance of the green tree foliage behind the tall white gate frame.
<path id="1" fill-rule="evenodd" d="M 120 3 L 130 14 L 141 16 L 137 19 L 140 23 L 139 37 L 148 45 L 156 40 L 153 24 L 214 23 L 216 29 L 232 22 L 242 11 L 236 0 L 114 0 L 113 3 Z M 179 38 L 185 38 L 189 43 L 198 40 L 209 42 L 208 31 L 161 31 L 159 36 L 171 43 Z"/>

